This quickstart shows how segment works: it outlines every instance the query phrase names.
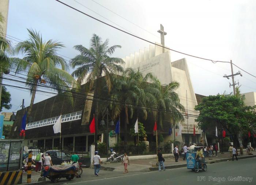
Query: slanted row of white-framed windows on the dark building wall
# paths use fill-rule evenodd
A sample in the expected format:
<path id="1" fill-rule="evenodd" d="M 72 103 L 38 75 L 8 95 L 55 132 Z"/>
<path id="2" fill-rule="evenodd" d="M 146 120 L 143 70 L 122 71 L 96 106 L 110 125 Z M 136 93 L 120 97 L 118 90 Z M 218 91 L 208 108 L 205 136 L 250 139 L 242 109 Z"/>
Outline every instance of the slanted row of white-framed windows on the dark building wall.
<path id="1" fill-rule="evenodd" d="M 81 116 L 82 116 L 82 111 L 62 115 L 61 116 L 61 123 L 69 122 L 69 121 L 73 121 L 73 120 L 79 120 L 79 119 L 81 119 Z M 40 121 L 37 121 L 37 122 L 28 123 L 27 126 L 26 126 L 26 130 L 31 129 L 31 128 L 44 127 L 44 126 L 47 126 L 47 125 L 52 125 L 57 121 L 58 118 L 59 118 L 59 116 L 52 117 L 52 118 L 49 118 L 49 119 L 40 120 Z"/>

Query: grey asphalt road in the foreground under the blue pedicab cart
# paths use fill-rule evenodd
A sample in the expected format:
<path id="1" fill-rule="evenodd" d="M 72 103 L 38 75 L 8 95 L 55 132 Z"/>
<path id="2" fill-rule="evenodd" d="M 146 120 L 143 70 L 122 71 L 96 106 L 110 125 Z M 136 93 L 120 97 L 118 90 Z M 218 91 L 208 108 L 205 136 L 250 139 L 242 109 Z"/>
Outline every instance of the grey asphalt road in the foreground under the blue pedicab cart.
<path id="1" fill-rule="evenodd" d="M 200 170 L 195 173 L 185 168 L 170 169 L 166 171 L 150 171 L 144 173 L 121 174 L 108 172 L 110 177 L 98 176 L 92 180 L 69 181 L 68 184 L 85 184 L 85 185 L 155 185 L 155 184 L 256 184 L 256 158 L 240 159 L 238 161 L 227 161 L 208 164 L 206 172 Z M 103 171 L 102 171 L 103 172 Z M 114 176 L 116 174 L 116 177 Z M 82 180 L 82 181 L 81 181 Z M 201 181 L 199 181 L 201 180 Z M 246 181 L 244 181 L 246 180 Z M 76 181 L 76 182 L 75 182 Z M 251 181 L 251 182 L 250 182 Z M 67 181 L 62 182 L 67 184 Z M 60 183 L 58 183 L 60 184 Z"/>

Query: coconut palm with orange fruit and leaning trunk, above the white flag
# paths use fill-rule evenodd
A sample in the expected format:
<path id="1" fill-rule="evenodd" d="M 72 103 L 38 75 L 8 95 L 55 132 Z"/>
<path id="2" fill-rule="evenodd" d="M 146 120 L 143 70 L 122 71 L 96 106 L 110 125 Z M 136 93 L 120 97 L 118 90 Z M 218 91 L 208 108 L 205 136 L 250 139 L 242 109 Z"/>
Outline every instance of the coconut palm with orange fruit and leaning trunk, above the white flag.
<path id="1" fill-rule="evenodd" d="M 14 49 L 15 54 L 25 54 L 25 57 L 13 58 L 12 66 L 16 68 L 16 73 L 23 71 L 27 73 L 26 84 L 32 95 L 27 111 L 27 115 L 30 115 L 39 83 L 47 82 L 48 86 L 57 90 L 58 93 L 64 91 L 69 96 L 72 95 L 72 88 L 79 89 L 79 84 L 66 71 L 68 70 L 66 61 L 56 53 L 64 45 L 52 40 L 45 42 L 39 32 L 27 30 L 29 39 L 19 42 Z"/>

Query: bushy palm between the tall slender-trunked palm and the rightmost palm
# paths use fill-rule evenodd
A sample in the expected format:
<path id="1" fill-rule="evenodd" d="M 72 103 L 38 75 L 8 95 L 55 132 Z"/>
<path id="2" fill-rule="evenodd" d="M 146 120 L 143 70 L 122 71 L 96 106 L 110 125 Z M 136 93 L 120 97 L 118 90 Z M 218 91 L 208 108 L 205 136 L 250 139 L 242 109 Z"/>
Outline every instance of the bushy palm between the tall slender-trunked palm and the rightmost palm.
<path id="1" fill-rule="evenodd" d="M 128 68 L 123 76 L 114 78 L 114 87 L 111 92 L 110 109 L 112 109 L 112 118 L 116 119 L 121 111 L 125 111 L 125 142 L 127 142 L 127 124 L 133 117 L 135 108 L 137 116 L 139 111 L 143 114 L 143 119 L 147 119 L 147 107 L 156 104 L 157 101 L 150 91 L 148 80 L 153 77 L 151 73 L 143 75 L 142 72 Z M 118 101 L 118 103 L 116 103 Z M 130 116 L 129 116 L 130 113 Z"/>

